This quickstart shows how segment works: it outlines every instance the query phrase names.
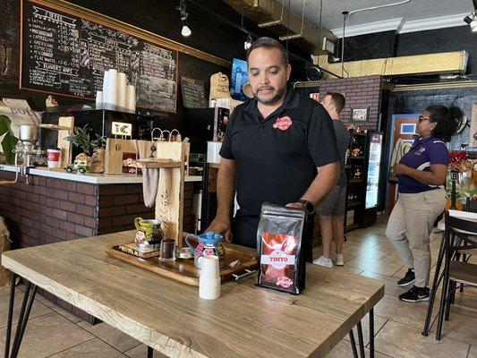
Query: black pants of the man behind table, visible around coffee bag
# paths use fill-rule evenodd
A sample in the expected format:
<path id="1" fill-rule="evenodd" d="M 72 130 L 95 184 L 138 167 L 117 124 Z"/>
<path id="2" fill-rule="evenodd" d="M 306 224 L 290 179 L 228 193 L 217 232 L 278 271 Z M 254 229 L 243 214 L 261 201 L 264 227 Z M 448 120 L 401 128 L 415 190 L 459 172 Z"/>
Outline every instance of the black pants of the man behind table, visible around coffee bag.
<path id="1" fill-rule="evenodd" d="M 232 243 L 237 245 L 257 248 L 257 230 L 259 228 L 260 217 L 235 216 L 232 221 Z M 313 239 L 314 215 L 307 215 L 302 233 L 302 250 L 307 262 L 313 260 L 312 239 Z"/>

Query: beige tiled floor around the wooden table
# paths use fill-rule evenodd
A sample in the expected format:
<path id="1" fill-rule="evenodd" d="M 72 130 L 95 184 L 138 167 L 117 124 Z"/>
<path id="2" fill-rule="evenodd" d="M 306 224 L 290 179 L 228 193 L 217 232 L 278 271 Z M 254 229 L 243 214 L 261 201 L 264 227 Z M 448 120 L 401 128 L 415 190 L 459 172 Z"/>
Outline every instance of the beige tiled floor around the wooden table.
<path id="1" fill-rule="evenodd" d="M 385 237 L 386 217 L 376 226 L 347 233 L 345 269 L 386 283 L 386 294 L 375 308 L 375 349 L 377 358 L 477 358 L 477 290 L 467 288 L 457 294 L 450 320 L 444 323 L 443 337 L 422 337 L 422 322 L 427 303 L 402 303 L 397 299 L 405 289 L 396 281 L 405 273 L 392 245 Z M 439 251 L 440 234 L 433 234 L 433 259 Z M 315 256 L 319 248 L 315 249 Z M 477 258 L 471 258 L 477 263 Z M 432 261 L 434 265 L 434 260 Z M 431 277 L 434 270 L 431 270 Z M 22 287 L 17 289 L 15 314 L 21 306 Z M 4 331 L 8 307 L 8 289 L 0 288 L 0 353 L 4 352 Z M 435 316 L 435 315 L 434 315 Z M 16 321 L 16 317 L 14 317 Z M 364 339 L 369 343 L 368 320 L 363 321 Z M 357 333 L 355 332 L 355 337 Z M 368 350 L 367 350 L 368 354 Z M 345 337 L 328 354 L 332 358 L 352 357 L 349 338 Z M 369 356 L 369 355 L 367 355 Z M 19 354 L 21 358 L 120 358 L 146 357 L 146 346 L 106 323 L 91 326 L 37 295 Z M 154 354 L 154 357 L 163 355 Z"/>

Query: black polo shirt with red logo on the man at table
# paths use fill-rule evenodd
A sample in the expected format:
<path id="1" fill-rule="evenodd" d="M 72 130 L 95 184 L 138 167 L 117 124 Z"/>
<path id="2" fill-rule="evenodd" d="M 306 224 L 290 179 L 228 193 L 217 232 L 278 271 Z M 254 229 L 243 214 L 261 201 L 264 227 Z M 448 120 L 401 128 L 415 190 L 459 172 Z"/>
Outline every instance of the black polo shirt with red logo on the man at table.
<path id="1" fill-rule="evenodd" d="M 235 160 L 237 216 L 257 218 L 264 201 L 299 200 L 317 166 L 339 161 L 328 112 L 290 87 L 283 105 L 266 119 L 255 98 L 236 107 L 220 156 Z"/>

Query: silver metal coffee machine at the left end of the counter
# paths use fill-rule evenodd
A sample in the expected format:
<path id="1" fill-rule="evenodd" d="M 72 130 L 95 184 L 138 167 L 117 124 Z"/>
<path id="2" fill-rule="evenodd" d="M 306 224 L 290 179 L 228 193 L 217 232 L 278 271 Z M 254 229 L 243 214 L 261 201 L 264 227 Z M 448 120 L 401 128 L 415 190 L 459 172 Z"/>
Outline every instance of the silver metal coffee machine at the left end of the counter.
<path id="1" fill-rule="evenodd" d="M 44 150 L 39 149 L 38 142 L 38 127 L 36 125 L 22 124 L 18 131 L 19 141 L 13 149 L 15 153 L 15 183 L 18 181 L 18 175 L 25 176 L 25 183 L 29 183 L 30 167 L 33 162 L 45 154 Z M 19 164 L 23 159 L 21 165 Z"/>

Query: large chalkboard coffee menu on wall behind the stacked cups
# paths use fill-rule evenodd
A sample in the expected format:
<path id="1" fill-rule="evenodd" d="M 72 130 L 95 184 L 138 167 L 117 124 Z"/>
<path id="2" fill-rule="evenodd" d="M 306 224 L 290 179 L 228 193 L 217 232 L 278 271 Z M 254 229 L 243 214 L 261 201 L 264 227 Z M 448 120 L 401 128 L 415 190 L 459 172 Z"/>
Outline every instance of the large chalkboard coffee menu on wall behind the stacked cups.
<path id="1" fill-rule="evenodd" d="M 22 0 L 21 88 L 95 98 L 115 68 L 136 86 L 138 107 L 175 112 L 177 51 Z"/>

